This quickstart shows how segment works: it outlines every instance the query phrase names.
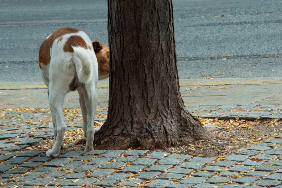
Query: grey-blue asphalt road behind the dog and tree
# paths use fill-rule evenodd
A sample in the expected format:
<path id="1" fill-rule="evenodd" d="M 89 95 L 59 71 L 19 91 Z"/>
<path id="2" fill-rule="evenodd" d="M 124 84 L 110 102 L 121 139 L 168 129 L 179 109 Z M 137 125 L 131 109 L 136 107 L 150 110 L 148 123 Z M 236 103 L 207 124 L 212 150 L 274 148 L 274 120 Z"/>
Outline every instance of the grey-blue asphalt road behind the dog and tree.
<path id="1" fill-rule="evenodd" d="M 174 0 L 181 79 L 282 76 L 281 0 Z M 41 81 L 38 50 L 75 27 L 107 45 L 106 0 L 0 0 L 0 81 Z"/>

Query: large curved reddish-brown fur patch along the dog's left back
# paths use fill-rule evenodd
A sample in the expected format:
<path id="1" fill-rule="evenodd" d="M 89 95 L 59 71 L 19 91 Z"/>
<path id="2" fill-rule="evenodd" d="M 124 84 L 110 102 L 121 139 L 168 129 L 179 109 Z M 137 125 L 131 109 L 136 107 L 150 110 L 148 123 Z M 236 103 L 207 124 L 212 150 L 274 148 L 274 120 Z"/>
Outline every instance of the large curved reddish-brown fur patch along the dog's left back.
<path id="1" fill-rule="evenodd" d="M 39 49 L 39 68 L 42 69 L 40 62 L 44 65 L 48 65 L 50 63 L 50 48 L 52 48 L 52 45 L 56 39 L 64 36 L 65 34 L 78 33 L 79 31 L 79 29 L 75 28 L 62 28 L 56 30 L 53 34 L 48 37 L 48 39 L 45 39 Z"/>

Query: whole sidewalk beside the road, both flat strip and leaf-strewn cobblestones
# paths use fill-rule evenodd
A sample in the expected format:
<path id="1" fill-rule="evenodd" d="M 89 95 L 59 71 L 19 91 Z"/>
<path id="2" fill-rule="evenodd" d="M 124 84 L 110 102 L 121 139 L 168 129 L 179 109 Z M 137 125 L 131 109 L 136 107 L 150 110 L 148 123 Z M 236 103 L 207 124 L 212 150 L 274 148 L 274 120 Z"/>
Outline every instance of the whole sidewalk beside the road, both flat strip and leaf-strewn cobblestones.
<path id="1" fill-rule="evenodd" d="M 248 139 L 255 138 L 253 145 L 238 138 L 243 142 L 242 148 L 232 150 L 228 156 L 211 157 L 209 153 L 210 157 L 199 157 L 194 156 L 193 150 L 191 155 L 183 154 L 183 150 L 177 154 L 142 149 L 84 153 L 77 149 L 82 146 L 75 144 L 83 138 L 76 92 L 65 98 L 68 109 L 64 111 L 67 125 L 64 142 L 69 141 L 66 142 L 68 150 L 63 150 L 66 153 L 61 153 L 57 159 L 46 157 L 45 152 L 54 140 L 46 91 L 41 82 L 0 86 L 0 109 L 3 109 L 0 111 L 1 187 L 282 187 L 279 123 L 274 127 L 263 125 L 271 129 L 267 139 L 254 135 L 259 134 L 258 129 L 251 127 L 245 133 L 250 134 Z M 187 109 L 196 116 L 281 117 L 282 78 L 181 80 L 180 91 Z M 105 120 L 107 101 L 107 83 L 102 82 L 95 130 L 101 126 L 99 121 Z M 241 132 L 243 129 L 239 127 L 234 129 Z M 237 140 L 234 137 L 232 135 L 232 139 Z"/>

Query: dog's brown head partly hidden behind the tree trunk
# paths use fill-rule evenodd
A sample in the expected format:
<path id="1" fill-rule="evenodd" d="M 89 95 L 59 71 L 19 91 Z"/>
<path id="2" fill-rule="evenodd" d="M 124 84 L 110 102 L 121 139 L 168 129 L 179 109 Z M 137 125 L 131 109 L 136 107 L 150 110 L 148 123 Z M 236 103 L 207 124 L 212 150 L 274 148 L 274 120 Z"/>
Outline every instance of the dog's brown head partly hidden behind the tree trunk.
<path id="1" fill-rule="evenodd" d="M 102 45 L 97 40 L 92 41 L 92 45 L 98 61 L 99 80 L 103 80 L 109 77 L 109 47 Z"/>

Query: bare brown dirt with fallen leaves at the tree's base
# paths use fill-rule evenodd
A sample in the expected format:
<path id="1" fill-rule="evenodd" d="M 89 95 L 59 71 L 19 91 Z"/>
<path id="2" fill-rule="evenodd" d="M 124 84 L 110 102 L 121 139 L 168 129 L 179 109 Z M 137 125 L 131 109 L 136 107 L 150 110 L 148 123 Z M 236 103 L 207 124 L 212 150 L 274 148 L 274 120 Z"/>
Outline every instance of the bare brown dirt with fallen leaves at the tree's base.
<path id="1" fill-rule="evenodd" d="M 273 121 L 246 121 L 200 118 L 200 121 L 202 125 L 211 124 L 218 126 L 218 128 L 207 129 L 217 135 L 213 142 L 210 140 L 200 140 L 191 143 L 185 142 L 184 139 L 182 140 L 180 138 L 179 146 L 159 149 L 156 151 L 200 157 L 222 157 L 232 154 L 240 149 L 247 148 L 252 144 L 258 144 L 269 138 L 274 138 L 277 133 L 282 132 L 282 122 L 277 122 L 275 119 Z M 76 150 L 83 150 L 85 142 L 83 139 L 79 140 L 79 142 L 80 143 L 65 142 L 66 149 L 62 150 L 62 152 L 69 152 L 74 148 Z M 96 146 L 96 149 L 99 148 L 100 146 Z"/>

